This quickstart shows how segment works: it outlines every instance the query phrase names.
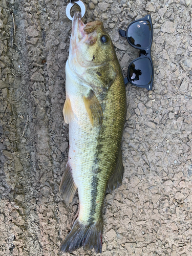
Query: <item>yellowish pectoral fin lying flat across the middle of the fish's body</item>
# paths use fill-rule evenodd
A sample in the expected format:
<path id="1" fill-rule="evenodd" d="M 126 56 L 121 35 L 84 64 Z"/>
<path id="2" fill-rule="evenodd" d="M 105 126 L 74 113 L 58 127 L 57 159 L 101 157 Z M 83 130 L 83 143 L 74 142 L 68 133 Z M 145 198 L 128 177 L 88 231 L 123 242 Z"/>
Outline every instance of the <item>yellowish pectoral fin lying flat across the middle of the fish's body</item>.
<path id="1" fill-rule="evenodd" d="M 103 120 L 103 112 L 94 91 L 91 90 L 88 97 L 83 96 L 83 102 L 86 106 L 91 124 L 93 126 L 101 125 Z"/>

